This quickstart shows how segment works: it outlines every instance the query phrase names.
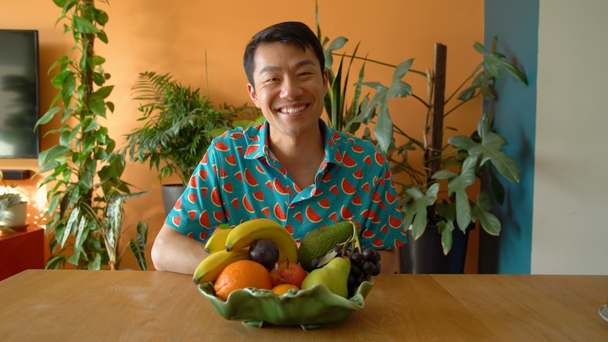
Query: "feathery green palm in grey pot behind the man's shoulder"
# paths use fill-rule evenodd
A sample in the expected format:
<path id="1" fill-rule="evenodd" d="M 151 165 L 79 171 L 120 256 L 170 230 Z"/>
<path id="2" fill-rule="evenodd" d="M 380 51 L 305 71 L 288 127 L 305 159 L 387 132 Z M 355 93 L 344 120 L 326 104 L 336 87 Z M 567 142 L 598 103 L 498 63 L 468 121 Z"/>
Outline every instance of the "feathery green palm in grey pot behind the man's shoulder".
<path id="1" fill-rule="evenodd" d="M 131 162 L 149 163 L 159 171 L 159 181 L 171 175 L 180 183 L 162 187 L 165 212 L 169 212 L 188 184 L 211 140 L 236 126 L 250 126 L 259 118 L 253 107 L 222 104 L 214 107 L 200 89 L 183 85 L 169 73 L 140 73 L 133 86 L 140 101 L 142 126 L 126 135 L 121 151 Z M 263 118 L 263 117 L 262 117 Z"/>

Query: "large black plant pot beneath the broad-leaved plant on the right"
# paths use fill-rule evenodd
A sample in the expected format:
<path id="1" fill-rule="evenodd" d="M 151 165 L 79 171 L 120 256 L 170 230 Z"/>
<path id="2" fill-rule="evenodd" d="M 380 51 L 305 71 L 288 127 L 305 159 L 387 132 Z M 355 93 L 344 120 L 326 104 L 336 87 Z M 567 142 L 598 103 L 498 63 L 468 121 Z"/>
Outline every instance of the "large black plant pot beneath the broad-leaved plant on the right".
<path id="1" fill-rule="evenodd" d="M 412 231 L 407 231 L 408 243 L 399 248 L 401 273 L 447 274 L 464 272 L 468 233 L 475 225 L 471 224 L 463 233 L 459 228 L 452 231 L 454 239 L 448 255 L 442 250 L 442 235 L 437 226 L 429 225 L 425 233 L 414 240 Z"/>

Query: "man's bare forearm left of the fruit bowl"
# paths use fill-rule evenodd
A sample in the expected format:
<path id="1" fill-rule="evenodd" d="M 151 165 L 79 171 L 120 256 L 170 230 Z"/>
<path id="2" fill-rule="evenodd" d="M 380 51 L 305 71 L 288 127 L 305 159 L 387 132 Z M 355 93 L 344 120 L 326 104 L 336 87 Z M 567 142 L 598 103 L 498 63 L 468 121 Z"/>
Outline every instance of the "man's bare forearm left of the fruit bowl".
<path id="1" fill-rule="evenodd" d="M 205 243 L 188 238 L 167 224 L 160 229 L 151 251 L 152 263 L 157 271 L 182 274 L 193 274 L 207 255 Z"/>

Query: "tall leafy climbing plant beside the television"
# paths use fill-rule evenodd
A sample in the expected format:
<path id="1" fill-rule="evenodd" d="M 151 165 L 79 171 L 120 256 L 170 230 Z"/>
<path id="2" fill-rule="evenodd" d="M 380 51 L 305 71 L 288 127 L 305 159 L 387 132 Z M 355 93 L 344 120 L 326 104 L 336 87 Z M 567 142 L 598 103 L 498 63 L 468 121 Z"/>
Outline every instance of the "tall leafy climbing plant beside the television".
<path id="1" fill-rule="evenodd" d="M 38 158 L 39 173 L 45 176 L 40 186 L 49 187 L 45 215 L 51 257 L 46 267 L 69 262 L 82 269 L 104 265 L 118 269 L 122 205 L 143 192 L 130 193 L 121 180 L 124 163 L 113 153 L 116 143 L 108 129 L 99 123 L 107 111 L 114 111 L 114 104 L 107 101 L 113 86 L 105 85 L 110 78 L 103 68 L 105 59 L 94 49 L 97 39 L 108 42 L 104 26 L 109 17 L 93 0 L 54 0 L 54 4 L 61 8 L 58 22 L 63 20 L 63 31 L 75 45 L 51 67 L 57 70 L 51 83 L 59 94 L 36 123 L 61 120 L 61 127 L 47 133 L 59 135 L 59 143 Z"/>

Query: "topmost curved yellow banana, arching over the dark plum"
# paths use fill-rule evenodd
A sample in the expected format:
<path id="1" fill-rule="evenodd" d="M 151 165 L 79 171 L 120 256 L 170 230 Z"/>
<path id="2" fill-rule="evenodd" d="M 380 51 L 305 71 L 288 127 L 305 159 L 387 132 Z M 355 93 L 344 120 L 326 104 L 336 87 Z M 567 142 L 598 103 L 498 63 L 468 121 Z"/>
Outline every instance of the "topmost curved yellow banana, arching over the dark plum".
<path id="1" fill-rule="evenodd" d="M 271 219 L 253 219 L 232 228 L 226 238 L 226 250 L 248 247 L 261 238 L 271 240 L 279 248 L 279 261 L 298 262 L 298 245 L 293 236 Z"/>

